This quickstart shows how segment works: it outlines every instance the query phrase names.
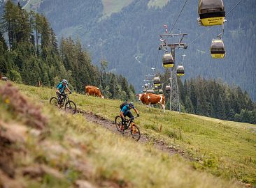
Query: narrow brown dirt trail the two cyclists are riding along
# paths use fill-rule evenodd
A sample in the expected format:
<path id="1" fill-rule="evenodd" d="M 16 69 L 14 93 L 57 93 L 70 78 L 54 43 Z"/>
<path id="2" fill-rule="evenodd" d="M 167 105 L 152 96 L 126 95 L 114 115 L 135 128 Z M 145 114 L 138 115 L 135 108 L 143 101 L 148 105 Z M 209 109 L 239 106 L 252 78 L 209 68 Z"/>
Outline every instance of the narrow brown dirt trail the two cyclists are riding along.
<path id="1" fill-rule="evenodd" d="M 77 112 L 82 113 L 83 116 L 85 116 L 85 118 L 87 120 L 89 120 L 90 122 L 101 125 L 101 127 L 104 127 L 107 130 L 110 130 L 111 132 L 115 132 L 116 134 L 121 134 L 116 129 L 114 121 L 111 121 L 102 116 L 99 116 L 99 115 L 93 113 L 92 111 L 84 111 L 82 109 L 77 109 Z M 124 136 L 130 136 L 130 135 L 129 135 L 129 133 L 126 133 L 126 134 L 124 134 Z M 193 159 L 192 156 L 187 155 L 187 153 L 185 153 L 183 150 L 178 150 L 177 148 L 175 148 L 175 146 L 169 146 L 168 144 L 164 143 L 164 141 L 162 141 L 162 140 L 157 141 L 155 139 L 150 138 L 150 136 L 145 135 L 145 134 L 141 134 L 141 139 L 138 142 L 140 142 L 140 143 L 150 142 L 153 144 L 153 146 L 155 148 L 162 150 L 163 152 L 168 152 L 169 155 L 178 154 L 178 155 L 184 157 L 185 159 L 189 159 L 190 161 L 196 161 L 196 159 Z"/>

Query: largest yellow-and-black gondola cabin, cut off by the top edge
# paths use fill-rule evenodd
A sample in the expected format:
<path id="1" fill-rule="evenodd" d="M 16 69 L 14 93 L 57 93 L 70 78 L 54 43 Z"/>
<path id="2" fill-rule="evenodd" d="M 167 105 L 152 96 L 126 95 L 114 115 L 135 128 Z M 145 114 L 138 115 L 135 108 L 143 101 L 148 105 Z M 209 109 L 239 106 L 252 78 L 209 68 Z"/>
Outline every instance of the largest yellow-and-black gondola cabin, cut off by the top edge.
<path id="1" fill-rule="evenodd" d="M 199 22 L 202 26 L 222 25 L 225 8 L 222 0 L 199 0 Z"/>

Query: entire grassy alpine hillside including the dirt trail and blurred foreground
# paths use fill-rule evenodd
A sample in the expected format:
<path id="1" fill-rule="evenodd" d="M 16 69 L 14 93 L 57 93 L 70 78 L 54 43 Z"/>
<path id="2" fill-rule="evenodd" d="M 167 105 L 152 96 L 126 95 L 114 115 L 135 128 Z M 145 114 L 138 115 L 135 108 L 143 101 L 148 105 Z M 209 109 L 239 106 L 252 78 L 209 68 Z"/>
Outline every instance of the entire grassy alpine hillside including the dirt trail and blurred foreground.
<path id="1" fill-rule="evenodd" d="M 73 93 L 80 113 L 71 115 L 49 105 L 52 95 L 50 88 L 0 81 L 1 187 L 256 184 L 255 125 L 135 102 L 136 142 L 113 124 L 122 101 Z"/>

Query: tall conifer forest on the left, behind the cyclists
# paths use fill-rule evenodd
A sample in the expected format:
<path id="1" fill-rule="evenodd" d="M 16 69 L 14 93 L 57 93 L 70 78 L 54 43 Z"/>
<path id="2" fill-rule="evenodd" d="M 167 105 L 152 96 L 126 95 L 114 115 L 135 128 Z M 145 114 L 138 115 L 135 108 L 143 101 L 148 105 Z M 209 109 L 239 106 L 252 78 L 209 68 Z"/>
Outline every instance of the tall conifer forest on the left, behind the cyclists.
<path id="1" fill-rule="evenodd" d="M 6 34 L 7 40 L 4 35 Z M 59 45 L 48 19 L 39 13 L 23 10 L 6 2 L 1 20 L 0 73 L 17 83 L 55 87 L 61 79 L 79 93 L 86 85 L 99 86 L 106 97 L 134 100 L 134 87 L 121 75 L 106 72 L 108 62 L 100 68 L 92 65 L 90 54 L 79 38 L 61 38 Z"/>

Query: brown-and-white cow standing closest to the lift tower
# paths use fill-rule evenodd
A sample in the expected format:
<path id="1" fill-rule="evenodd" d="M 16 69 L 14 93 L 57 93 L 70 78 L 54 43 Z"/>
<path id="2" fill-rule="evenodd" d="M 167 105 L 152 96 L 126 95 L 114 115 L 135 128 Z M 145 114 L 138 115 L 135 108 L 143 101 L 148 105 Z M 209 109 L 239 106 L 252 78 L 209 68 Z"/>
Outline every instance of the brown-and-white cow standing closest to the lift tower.
<path id="1" fill-rule="evenodd" d="M 165 97 L 164 95 L 156 95 L 153 93 L 138 94 L 138 100 L 141 100 L 143 104 L 149 106 L 150 104 L 160 104 L 165 111 Z"/>

